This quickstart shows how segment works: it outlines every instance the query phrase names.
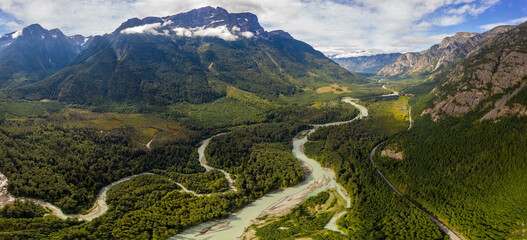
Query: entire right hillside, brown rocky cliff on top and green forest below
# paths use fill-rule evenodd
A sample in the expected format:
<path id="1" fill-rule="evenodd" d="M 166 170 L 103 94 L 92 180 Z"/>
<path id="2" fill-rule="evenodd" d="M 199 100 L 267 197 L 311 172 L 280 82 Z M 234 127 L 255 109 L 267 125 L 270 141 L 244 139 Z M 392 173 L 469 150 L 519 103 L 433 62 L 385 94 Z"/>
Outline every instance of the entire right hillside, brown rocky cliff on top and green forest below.
<path id="1" fill-rule="evenodd" d="M 466 239 L 526 237 L 527 23 L 505 28 L 410 89 L 414 127 L 381 145 L 397 159 L 376 157 L 395 187 Z"/>

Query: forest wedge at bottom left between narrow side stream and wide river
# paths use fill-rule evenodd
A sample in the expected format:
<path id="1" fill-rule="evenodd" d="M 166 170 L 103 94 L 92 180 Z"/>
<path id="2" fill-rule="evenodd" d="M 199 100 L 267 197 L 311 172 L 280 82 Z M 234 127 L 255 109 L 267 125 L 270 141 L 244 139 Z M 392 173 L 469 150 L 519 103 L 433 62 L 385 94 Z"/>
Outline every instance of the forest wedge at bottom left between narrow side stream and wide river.
<path id="1" fill-rule="evenodd" d="M 46 239 L 166 239 L 246 204 L 233 194 L 196 197 L 181 192 L 160 175 L 133 178 L 108 190 L 107 196 L 106 214 Z"/>

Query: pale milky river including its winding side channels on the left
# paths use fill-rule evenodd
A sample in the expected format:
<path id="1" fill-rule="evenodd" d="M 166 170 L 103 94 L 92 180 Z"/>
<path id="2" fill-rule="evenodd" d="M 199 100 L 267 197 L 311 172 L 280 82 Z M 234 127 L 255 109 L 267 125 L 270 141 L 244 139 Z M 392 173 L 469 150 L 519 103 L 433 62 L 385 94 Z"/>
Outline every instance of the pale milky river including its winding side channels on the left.
<path id="1" fill-rule="evenodd" d="M 360 113 L 352 120 L 348 121 L 342 121 L 342 122 L 333 122 L 333 123 L 327 123 L 327 124 L 317 124 L 313 125 L 313 128 L 310 130 L 306 130 L 298 134 L 297 137 L 293 139 L 293 149 L 292 153 L 293 155 L 298 159 L 298 161 L 301 162 L 301 164 L 310 169 L 309 176 L 306 177 L 306 179 L 293 186 L 284 189 L 283 191 L 277 191 L 272 192 L 269 194 L 266 194 L 264 197 L 252 202 L 251 204 L 247 205 L 242 210 L 238 211 L 237 213 L 231 214 L 229 218 L 222 220 L 222 221 L 210 221 L 206 223 L 202 223 L 198 226 L 192 227 L 176 236 L 173 236 L 170 239 L 235 239 L 242 235 L 245 228 L 250 226 L 253 219 L 256 219 L 258 216 L 260 216 L 264 212 L 272 212 L 272 211 L 282 211 L 283 209 L 290 209 L 293 206 L 296 206 L 301 201 L 303 201 L 306 197 L 316 195 L 317 193 L 335 188 L 337 192 L 347 201 L 347 207 L 350 207 L 350 198 L 347 195 L 344 188 L 338 184 L 335 180 L 335 173 L 331 169 L 323 168 L 317 161 L 308 158 L 303 151 L 304 144 L 307 142 L 307 137 L 309 134 L 315 132 L 320 127 L 327 127 L 327 126 L 336 126 L 341 124 L 346 124 L 351 121 L 361 119 L 363 117 L 368 116 L 368 110 L 356 103 L 357 99 L 352 98 L 343 98 L 343 102 L 349 103 L 353 106 L 355 106 L 357 109 L 359 109 Z M 217 135 L 216 135 L 217 136 Z M 154 136 L 155 137 L 155 136 Z M 207 147 L 208 143 L 213 137 L 206 139 L 202 142 L 202 145 L 198 149 L 199 152 L 199 158 L 200 158 L 200 164 L 205 167 L 207 171 L 213 170 L 215 168 L 208 166 L 207 161 L 205 159 L 205 148 Z M 154 140 L 154 138 L 152 138 Z M 152 143 L 152 140 L 148 142 L 146 145 L 148 149 L 150 149 L 150 144 Z M 218 169 L 221 171 L 225 177 L 227 178 L 229 182 L 229 187 L 231 191 L 236 191 L 236 188 L 233 186 L 233 180 L 231 179 L 230 175 L 225 172 L 224 170 Z M 97 195 L 97 199 L 93 205 L 93 207 L 90 209 L 90 211 L 86 214 L 64 214 L 62 210 L 44 200 L 41 199 L 33 199 L 33 198 L 18 198 L 21 200 L 29 200 L 36 202 L 44 207 L 49 208 L 52 211 L 53 215 L 58 216 L 59 218 L 66 219 L 66 218 L 79 218 L 83 220 L 90 221 L 96 217 L 99 217 L 103 215 L 108 210 L 108 205 L 106 204 L 106 192 L 111 187 L 128 181 L 134 177 L 145 175 L 145 174 L 152 174 L 152 173 L 141 173 L 133 176 L 128 176 L 125 178 L 122 178 L 118 181 L 112 182 L 108 186 L 105 186 L 101 189 L 99 194 Z M 13 202 L 15 198 L 7 192 L 7 178 L 5 175 L 0 173 L 0 206 L 6 203 Z M 196 194 L 193 191 L 190 191 L 186 189 L 183 185 L 178 184 L 185 192 L 189 192 L 191 194 L 200 196 L 200 194 Z M 3 200 L 3 201 L 2 201 Z M 337 216 L 335 216 L 330 222 L 335 222 L 336 218 L 342 216 L 344 213 L 340 213 Z M 328 224 L 327 228 L 335 230 L 334 224 Z M 206 234 L 202 234 L 200 236 L 196 236 L 200 232 L 202 232 L 204 229 L 209 229 L 209 231 Z"/>

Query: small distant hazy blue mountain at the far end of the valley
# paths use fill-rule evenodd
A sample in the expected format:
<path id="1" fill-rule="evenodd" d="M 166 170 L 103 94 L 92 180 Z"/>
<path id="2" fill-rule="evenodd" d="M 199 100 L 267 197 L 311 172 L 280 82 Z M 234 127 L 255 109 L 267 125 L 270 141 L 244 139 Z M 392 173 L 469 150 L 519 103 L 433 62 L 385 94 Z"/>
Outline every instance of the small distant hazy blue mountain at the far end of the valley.
<path id="1" fill-rule="evenodd" d="M 384 66 L 395 62 L 399 56 L 401 56 L 400 53 L 388 53 L 372 56 L 332 58 L 332 60 L 352 72 L 376 74 Z"/>

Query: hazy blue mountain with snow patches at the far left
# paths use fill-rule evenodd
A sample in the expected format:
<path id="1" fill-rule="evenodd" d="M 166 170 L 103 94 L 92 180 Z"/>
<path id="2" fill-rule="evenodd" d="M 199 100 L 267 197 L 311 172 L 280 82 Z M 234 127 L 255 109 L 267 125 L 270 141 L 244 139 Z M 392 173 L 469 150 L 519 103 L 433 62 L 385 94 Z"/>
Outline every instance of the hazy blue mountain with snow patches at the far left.
<path id="1" fill-rule="evenodd" d="M 85 48 L 86 39 L 67 37 L 58 29 L 46 30 L 38 24 L 3 35 L 0 87 L 42 79 L 66 67 Z"/>

